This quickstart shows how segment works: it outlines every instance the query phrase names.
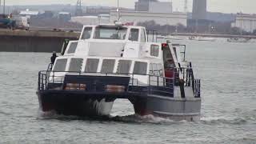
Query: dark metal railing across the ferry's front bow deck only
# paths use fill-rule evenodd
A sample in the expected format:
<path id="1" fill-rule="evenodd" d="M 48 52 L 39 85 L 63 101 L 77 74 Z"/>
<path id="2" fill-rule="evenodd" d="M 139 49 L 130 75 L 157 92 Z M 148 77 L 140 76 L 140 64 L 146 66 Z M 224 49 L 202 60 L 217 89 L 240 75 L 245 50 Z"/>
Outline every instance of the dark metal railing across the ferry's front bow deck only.
<path id="1" fill-rule="evenodd" d="M 59 76 L 60 73 L 74 74 L 74 75 L 98 75 L 98 76 L 120 76 L 120 77 L 130 77 L 130 82 L 126 88 L 127 92 L 146 92 L 148 94 L 162 94 L 166 96 L 174 96 L 174 78 L 164 78 L 160 76 L 148 75 L 148 74 L 117 74 L 117 73 L 82 73 L 82 72 L 72 72 L 72 71 L 40 71 L 38 73 L 38 90 L 62 90 L 63 83 L 66 76 Z M 147 76 L 148 82 L 140 82 L 137 76 Z M 100 81 L 97 81 L 98 84 Z M 95 84 L 96 86 L 97 84 Z M 101 83 L 103 86 L 107 86 L 108 83 Z M 78 84 L 77 89 L 80 90 L 80 84 Z M 96 89 L 94 89 L 96 90 Z"/>

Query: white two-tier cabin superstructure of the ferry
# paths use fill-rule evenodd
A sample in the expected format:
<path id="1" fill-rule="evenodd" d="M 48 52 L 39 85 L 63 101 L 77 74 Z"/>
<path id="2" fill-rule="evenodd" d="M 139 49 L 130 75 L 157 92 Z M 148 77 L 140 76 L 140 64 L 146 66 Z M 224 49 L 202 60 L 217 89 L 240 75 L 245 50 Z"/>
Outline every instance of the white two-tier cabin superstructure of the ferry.
<path id="1" fill-rule="evenodd" d="M 138 74 L 143 85 L 148 84 L 148 75 L 165 76 L 167 59 L 174 59 L 178 67 L 179 54 L 179 49 L 162 50 L 162 43 L 148 42 L 142 26 L 84 26 L 79 40 L 71 41 L 57 58 L 54 71 Z"/>

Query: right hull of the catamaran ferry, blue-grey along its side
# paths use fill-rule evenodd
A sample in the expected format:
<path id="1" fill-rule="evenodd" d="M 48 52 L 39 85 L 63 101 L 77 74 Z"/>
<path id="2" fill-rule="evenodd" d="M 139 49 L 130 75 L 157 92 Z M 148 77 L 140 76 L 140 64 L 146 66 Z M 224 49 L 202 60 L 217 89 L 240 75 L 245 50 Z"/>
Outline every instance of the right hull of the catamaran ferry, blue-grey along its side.
<path id="1" fill-rule="evenodd" d="M 134 111 L 138 115 L 156 115 L 174 121 L 200 120 L 201 98 L 166 98 L 156 95 L 138 97 Z"/>

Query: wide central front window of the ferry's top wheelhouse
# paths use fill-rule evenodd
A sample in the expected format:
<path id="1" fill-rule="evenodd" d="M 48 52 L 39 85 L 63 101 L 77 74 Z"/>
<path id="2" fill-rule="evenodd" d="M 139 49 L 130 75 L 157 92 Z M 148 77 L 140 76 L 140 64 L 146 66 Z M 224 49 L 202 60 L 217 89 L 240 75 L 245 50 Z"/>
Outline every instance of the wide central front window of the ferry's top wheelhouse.
<path id="1" fill-rule="evenodd" d="M 95 28 L 95 39 L 119 39 L 123 40 L 126 38 L 127 28 L 121 26 L 102 27 L 98 26 Z"/>

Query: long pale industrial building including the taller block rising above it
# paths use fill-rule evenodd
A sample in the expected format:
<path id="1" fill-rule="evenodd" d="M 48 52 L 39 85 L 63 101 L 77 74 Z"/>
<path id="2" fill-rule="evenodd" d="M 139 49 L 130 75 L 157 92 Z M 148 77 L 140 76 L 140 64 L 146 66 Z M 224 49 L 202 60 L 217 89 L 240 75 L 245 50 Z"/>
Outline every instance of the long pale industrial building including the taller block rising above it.
<path id="1" fill-rule="evenodd" d="M 135 2 L 135 11 L 121 10 L 122 22 L 149 22 L 154 21 L 164 26 L 176 26 L 182 24 L 186 26 L 187 14 L 181 12 L 173 12 L 172 2 L 158 2 L 158 0 L 138 0 Z M 110 11 L 110 22 L 118 19 L 116 10 Z"/>

